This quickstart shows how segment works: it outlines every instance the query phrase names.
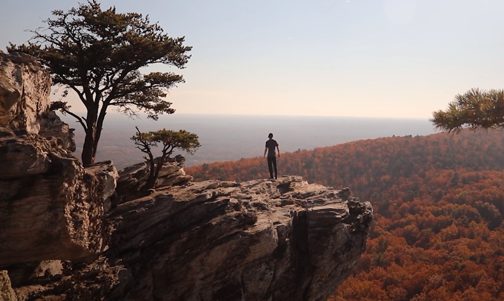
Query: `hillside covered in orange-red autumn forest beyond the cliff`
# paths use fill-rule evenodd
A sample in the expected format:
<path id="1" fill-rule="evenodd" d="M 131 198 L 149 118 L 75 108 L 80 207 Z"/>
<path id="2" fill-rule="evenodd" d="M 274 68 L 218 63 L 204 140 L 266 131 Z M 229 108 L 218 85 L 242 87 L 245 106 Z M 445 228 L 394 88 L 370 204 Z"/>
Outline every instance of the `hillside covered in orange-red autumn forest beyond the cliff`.
<path id="1" fill-rule="evenodd" d="M 330 300 L 504 300 L 503 146 L 502 132 L 463 131 L 282 154 L 279 174 L 349 187 L 375 210 L 366 253 Z M 267 169 L 251 158 L 186 172 L 243 181 Z"/>

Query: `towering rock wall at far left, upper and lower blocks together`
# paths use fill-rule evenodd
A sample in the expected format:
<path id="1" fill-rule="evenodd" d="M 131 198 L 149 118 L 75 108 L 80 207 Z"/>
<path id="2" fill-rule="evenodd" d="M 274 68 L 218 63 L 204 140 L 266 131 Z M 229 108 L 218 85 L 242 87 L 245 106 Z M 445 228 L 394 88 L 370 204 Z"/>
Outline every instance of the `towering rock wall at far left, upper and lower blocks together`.
<path id="1" fill-rule="evenodd" d="M 0 266 L 106 248 L 107 182 L 68 151 L 73 134 L 48 111 L 50 82 L 33 57 L 0 53 Z"/>

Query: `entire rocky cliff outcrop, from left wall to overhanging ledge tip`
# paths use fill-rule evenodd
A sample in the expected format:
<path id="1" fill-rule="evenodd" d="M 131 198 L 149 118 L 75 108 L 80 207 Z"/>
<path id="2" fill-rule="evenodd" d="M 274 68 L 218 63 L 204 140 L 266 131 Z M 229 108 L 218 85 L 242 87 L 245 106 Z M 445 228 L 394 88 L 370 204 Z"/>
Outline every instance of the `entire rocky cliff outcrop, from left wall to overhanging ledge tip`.
<path id="1" fill-rule="evenodd" d="M 176 157 L 145 195 L 143 163 L 83 168 L 45 71 L 0 60 L 0 299 L 325 300 L 364 251 L 372 207 L 348 189 L 194 183 Z"/>

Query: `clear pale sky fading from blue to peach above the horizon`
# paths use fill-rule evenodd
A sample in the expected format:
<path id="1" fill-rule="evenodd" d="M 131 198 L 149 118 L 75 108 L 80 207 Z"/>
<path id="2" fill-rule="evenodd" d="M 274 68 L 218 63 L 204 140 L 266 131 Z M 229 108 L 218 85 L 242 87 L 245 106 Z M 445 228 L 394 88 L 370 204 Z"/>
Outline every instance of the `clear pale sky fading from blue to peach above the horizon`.
<path id="1" fill-rule="evenodd" d="M 0 1 L 4 51 L 78 3 Z M 503 87 L 502 0 L 101 4 L 148 14 L 193 46 L 186 83 L 168 96 L 177 113 L 429 118 L 471 87 Z"/>

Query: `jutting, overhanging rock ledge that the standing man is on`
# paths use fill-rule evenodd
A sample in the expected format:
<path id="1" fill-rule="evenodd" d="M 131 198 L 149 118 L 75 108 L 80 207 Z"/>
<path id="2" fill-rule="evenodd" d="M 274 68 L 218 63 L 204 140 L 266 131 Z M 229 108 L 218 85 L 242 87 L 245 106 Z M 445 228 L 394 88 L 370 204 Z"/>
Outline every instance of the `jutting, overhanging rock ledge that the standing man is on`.
<path id="1" fill-rule="evenodd" d="M 169 187 L 118 205 L 124 300 L 325 300 L 366 245 L 369 202 L 299 176 Z M 134 271 L 134 272 L 133 272 Z"/>

